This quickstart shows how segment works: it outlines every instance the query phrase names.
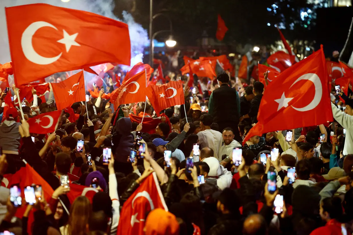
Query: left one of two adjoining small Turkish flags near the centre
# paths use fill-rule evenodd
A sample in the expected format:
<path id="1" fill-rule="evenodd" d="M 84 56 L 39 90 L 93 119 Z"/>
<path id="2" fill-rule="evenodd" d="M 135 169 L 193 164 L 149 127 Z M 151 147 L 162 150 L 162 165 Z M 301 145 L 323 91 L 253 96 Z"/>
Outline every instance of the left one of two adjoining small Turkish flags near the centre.
<path id="1" fill-rule="evenodd" d="M 110 96 L 114 109 L 121 104 L 131 104 L 146 100 L 146 72 L 142 71 L 128 79 Z"/>

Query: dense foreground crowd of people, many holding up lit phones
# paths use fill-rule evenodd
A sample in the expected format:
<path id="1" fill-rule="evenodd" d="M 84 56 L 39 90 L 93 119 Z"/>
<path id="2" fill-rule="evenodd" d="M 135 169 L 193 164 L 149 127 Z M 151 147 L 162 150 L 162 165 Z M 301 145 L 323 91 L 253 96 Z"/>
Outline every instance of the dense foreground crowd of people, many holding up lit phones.
<path id="1" fill-rule="evenodd" d="M 343 104 L 333 90 L 334 122 L 243 144 L 257 123 L 264 84 L 227 73 L 204 91 L 186 84 L 185 104 L 159 118 L 149 100 L 110 109 L 103 89 L 86 104 L 72 104 L 77 120 L 63 112 L 48 135 L 31 133 L 26 120 L 56 110 L 54 99 L 43 102 L 33 90 L 34 102 L 22 105 L 24 119 L 8 108 L 0 115 L 1 234 L 119 234 L 134 224 L 133 217 L 121 223 L 124 203 L 150 174 L 168 211 L 146 209 L 137 221 L 146 235 L 353 233 L 353 99 L 340 93 Z M 1 92 L 0 106 L 5 95 L 11 90 Z M 143 131 L 147 124 L 133 117 L 158 122 Z M 37 193 L 32 204 L 14 202 L 18 186 L 7 179 L 26 164 L 53 190 L 49 197 Z M 70 200 L 73 185 L 94 188 L 94 195 Z"/>

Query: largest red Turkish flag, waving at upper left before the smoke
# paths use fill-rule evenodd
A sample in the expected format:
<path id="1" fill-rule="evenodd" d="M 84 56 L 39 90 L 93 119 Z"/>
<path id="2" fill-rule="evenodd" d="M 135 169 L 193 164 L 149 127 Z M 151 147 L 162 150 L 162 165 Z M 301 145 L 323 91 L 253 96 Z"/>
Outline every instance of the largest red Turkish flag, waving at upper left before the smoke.
<path id="1" fill-rule="evenodd" d="M 128 26 L 121 21 L 48 4 L 5 12 L 17 86 L 106 62 L 130 65 Z"/>

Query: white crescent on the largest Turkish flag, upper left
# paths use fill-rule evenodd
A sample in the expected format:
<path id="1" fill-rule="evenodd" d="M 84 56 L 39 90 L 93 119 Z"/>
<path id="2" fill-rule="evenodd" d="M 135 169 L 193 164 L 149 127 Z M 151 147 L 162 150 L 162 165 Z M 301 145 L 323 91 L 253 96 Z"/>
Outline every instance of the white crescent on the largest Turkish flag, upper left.
<path id="1" fill-rule="evenodd" d="M 33 44 L 32 44 L 32 37 L 35 34 L 35 32 L 41 27 L 51 27 L 53 29 L 56 29 L 54 25 L 49 24 L 48 22 L 45 22 L 45 21 L 36 21 L 30 24 L 22 33 L 22 37 L 21 37 L 22 51 L 24 56 L 27 58 L 27 60 L 35 64 L 42 64 L 42 65 L 51 64 L 60 58 L 60 56 L 62 55 L 62 52 L 60 52 L 60 54 L 55 57 L 48 58 L 48 57 L 43 57 L 39 55 L 34 50 Z"/>

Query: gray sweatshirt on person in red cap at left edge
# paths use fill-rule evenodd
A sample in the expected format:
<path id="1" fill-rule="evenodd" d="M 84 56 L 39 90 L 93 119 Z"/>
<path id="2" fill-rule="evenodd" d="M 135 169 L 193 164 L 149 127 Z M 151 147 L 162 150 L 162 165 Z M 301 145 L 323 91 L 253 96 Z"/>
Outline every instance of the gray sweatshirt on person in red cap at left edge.
<path id="1" fill-rule="evenodd" d="M 5 120 L 0 125 L 0 148 L 3 153 L 18 154 L 21 135 L 18 131 L 19 122 Z"/>

